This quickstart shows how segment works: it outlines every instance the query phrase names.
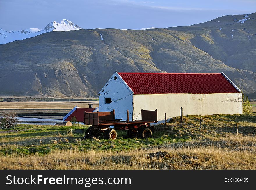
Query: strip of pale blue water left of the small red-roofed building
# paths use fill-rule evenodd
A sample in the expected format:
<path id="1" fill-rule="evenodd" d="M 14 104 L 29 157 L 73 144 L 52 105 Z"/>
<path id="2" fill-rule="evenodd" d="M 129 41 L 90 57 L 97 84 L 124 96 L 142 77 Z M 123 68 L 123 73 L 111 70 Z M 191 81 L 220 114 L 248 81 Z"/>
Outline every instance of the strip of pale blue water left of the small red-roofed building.
<path id="1" fill-rule="evenodd" d="M 49 116 L 50 118 L 51 116 Z M 30 124 L 30 125 L 54 125 L 56 123 L 63 122 L 62 119 L 42 119 L 33 117 L 17 117 L 20 124 Z"/>

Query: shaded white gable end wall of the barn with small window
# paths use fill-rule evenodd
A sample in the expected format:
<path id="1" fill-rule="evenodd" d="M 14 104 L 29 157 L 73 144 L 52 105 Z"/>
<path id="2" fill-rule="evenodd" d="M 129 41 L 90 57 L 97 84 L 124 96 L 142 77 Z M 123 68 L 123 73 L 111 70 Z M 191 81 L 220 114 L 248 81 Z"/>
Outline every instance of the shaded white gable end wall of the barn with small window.
<path id="1" fill-rule="evenodd" d="M 114 76 L 117 76 L 116 80 L 114 80 Z M 129 110 L 129 120 L 132 119 L 133 92 L 131 92 L 118 74 L 111 77 L 99 94 L 99 112 L 115 110 L 115 119 L 122 118 L 122 120 L 127 120 L 126 110 Z M 105 98 L 111 98 L 112 102 L 105 104 Z"/>

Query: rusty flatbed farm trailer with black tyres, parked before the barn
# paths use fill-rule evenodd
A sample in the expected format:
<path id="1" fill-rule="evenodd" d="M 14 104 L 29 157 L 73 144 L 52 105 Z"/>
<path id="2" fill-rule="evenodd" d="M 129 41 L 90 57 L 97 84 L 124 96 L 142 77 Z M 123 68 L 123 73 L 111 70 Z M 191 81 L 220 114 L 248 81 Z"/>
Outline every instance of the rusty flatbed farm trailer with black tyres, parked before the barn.
<path id="1" fill-rule="evenodd" d="M 154 126 L 150 123 L 157 123 L 157 110 L 149 111 L 141 109 L 141 120 L 129 121 L 115 119 L 115 110 L 111 112 L 84 112 L 84 124 L 90 125 L 85 131 L 84 139 L 93 137 L 104 137 L 104 139 L 115 140 L 116 130 L 125 130 L 128 137 L 148 138 L 154 132 Z M 113 126 L 113 127 L 111 127 Z"/>

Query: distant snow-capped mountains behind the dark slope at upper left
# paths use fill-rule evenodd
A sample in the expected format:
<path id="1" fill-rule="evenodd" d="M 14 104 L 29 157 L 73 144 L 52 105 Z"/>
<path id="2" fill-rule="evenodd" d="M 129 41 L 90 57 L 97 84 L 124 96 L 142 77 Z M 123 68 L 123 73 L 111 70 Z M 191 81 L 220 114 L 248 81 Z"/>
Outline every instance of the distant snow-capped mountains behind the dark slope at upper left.
<path id="1" fill-rule="evenodd" d="M 42 30 L 34 31 L 35 29 L 37 28 L 7 32 L 6 30 L 0 28 L 0 44 L 6 44 L 15 40 L 23 40 L 26 38 L 35 37 L 45 32 L 80 30 L 83 28 L 77 26 L 67 19 L 63 19 L 60 23 L 56 21 L 49 23 Z"/>

